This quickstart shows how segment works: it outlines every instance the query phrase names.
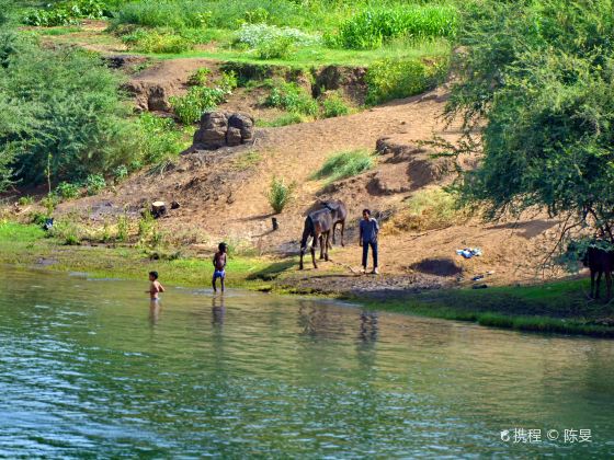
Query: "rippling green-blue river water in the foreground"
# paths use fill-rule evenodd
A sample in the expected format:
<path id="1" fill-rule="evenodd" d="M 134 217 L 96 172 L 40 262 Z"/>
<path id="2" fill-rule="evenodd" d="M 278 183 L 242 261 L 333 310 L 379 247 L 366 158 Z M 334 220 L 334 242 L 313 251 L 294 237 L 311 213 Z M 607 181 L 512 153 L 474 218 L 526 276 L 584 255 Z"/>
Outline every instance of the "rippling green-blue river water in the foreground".
<path id="1" fill-rule="evenodd" d="M 0 457 L 614 456 L 614 341 L 0 271 Z"/>

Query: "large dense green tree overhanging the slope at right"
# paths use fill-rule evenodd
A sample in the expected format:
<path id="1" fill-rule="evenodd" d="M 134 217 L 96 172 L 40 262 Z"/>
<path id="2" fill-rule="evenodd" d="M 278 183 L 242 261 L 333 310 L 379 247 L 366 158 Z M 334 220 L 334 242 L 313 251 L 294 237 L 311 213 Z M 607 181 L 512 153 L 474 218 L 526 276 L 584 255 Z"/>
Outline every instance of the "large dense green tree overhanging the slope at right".
<path id="1" fill-rule="evenodd" d="M 490 216 L 545 207 L 614 241 L 613 7 L 488 0 L 467 11 L 448 114 L 463 114 L 467 139 L 481 135 L 463 193 Z"/>

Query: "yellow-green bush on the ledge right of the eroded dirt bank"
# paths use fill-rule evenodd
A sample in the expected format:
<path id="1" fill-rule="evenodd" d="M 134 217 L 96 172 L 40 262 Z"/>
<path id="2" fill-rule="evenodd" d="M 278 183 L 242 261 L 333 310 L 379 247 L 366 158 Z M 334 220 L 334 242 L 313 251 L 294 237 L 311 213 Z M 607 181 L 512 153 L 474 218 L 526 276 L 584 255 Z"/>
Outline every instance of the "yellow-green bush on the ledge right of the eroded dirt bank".
<path id="1" fill-rule="evenodd" d="M 423 93 L 434 88 L 445 76 L 447 61 L 386 59 L 373 64 L 366 72 L 367 104 Z"/>

